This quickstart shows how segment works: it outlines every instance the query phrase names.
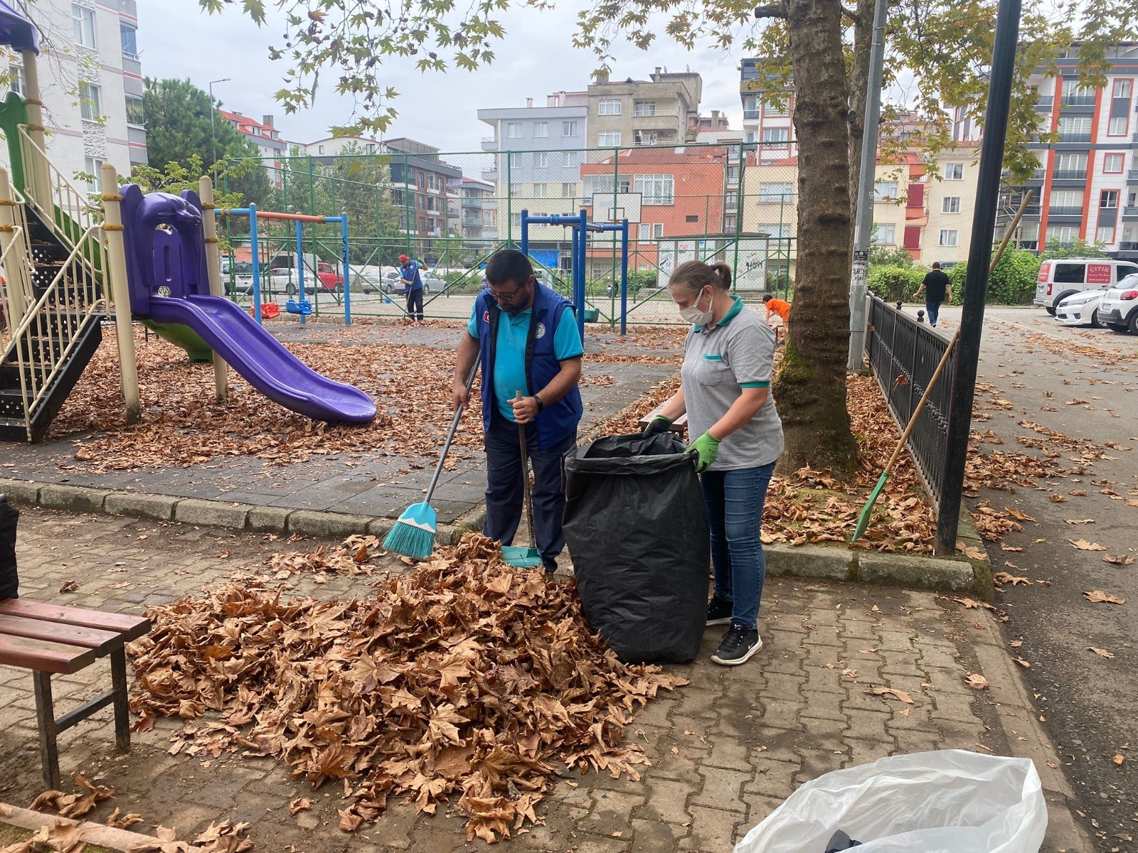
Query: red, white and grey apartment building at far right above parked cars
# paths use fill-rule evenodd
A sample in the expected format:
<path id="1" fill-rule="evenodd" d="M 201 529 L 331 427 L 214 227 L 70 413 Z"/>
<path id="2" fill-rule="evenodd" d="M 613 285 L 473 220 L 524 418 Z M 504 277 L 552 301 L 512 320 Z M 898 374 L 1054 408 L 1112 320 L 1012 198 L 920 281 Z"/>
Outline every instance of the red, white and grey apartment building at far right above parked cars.
<path id="1" fill-rule="evenodd" d="M 1057 60 L 1058 74 L 1040 68 L 1029 78 L 1039 92 L 1040 131 L 1057 141 L 1038 141 L 1040 168 L 1033 180 L 1007 194 L 997 227 L 1009 222 L 1028 188 L 1034 191 L 1015 245 L 1042 249 L 1052 240 L 1099 242 L 1113 257 L 1138 259 L 1138 42 L 1106 53 L 1110 67 L 1100 89 L 1078 78 L 1078 45 Z M 958 121 L 962 133 L 965 121 Z"/>

